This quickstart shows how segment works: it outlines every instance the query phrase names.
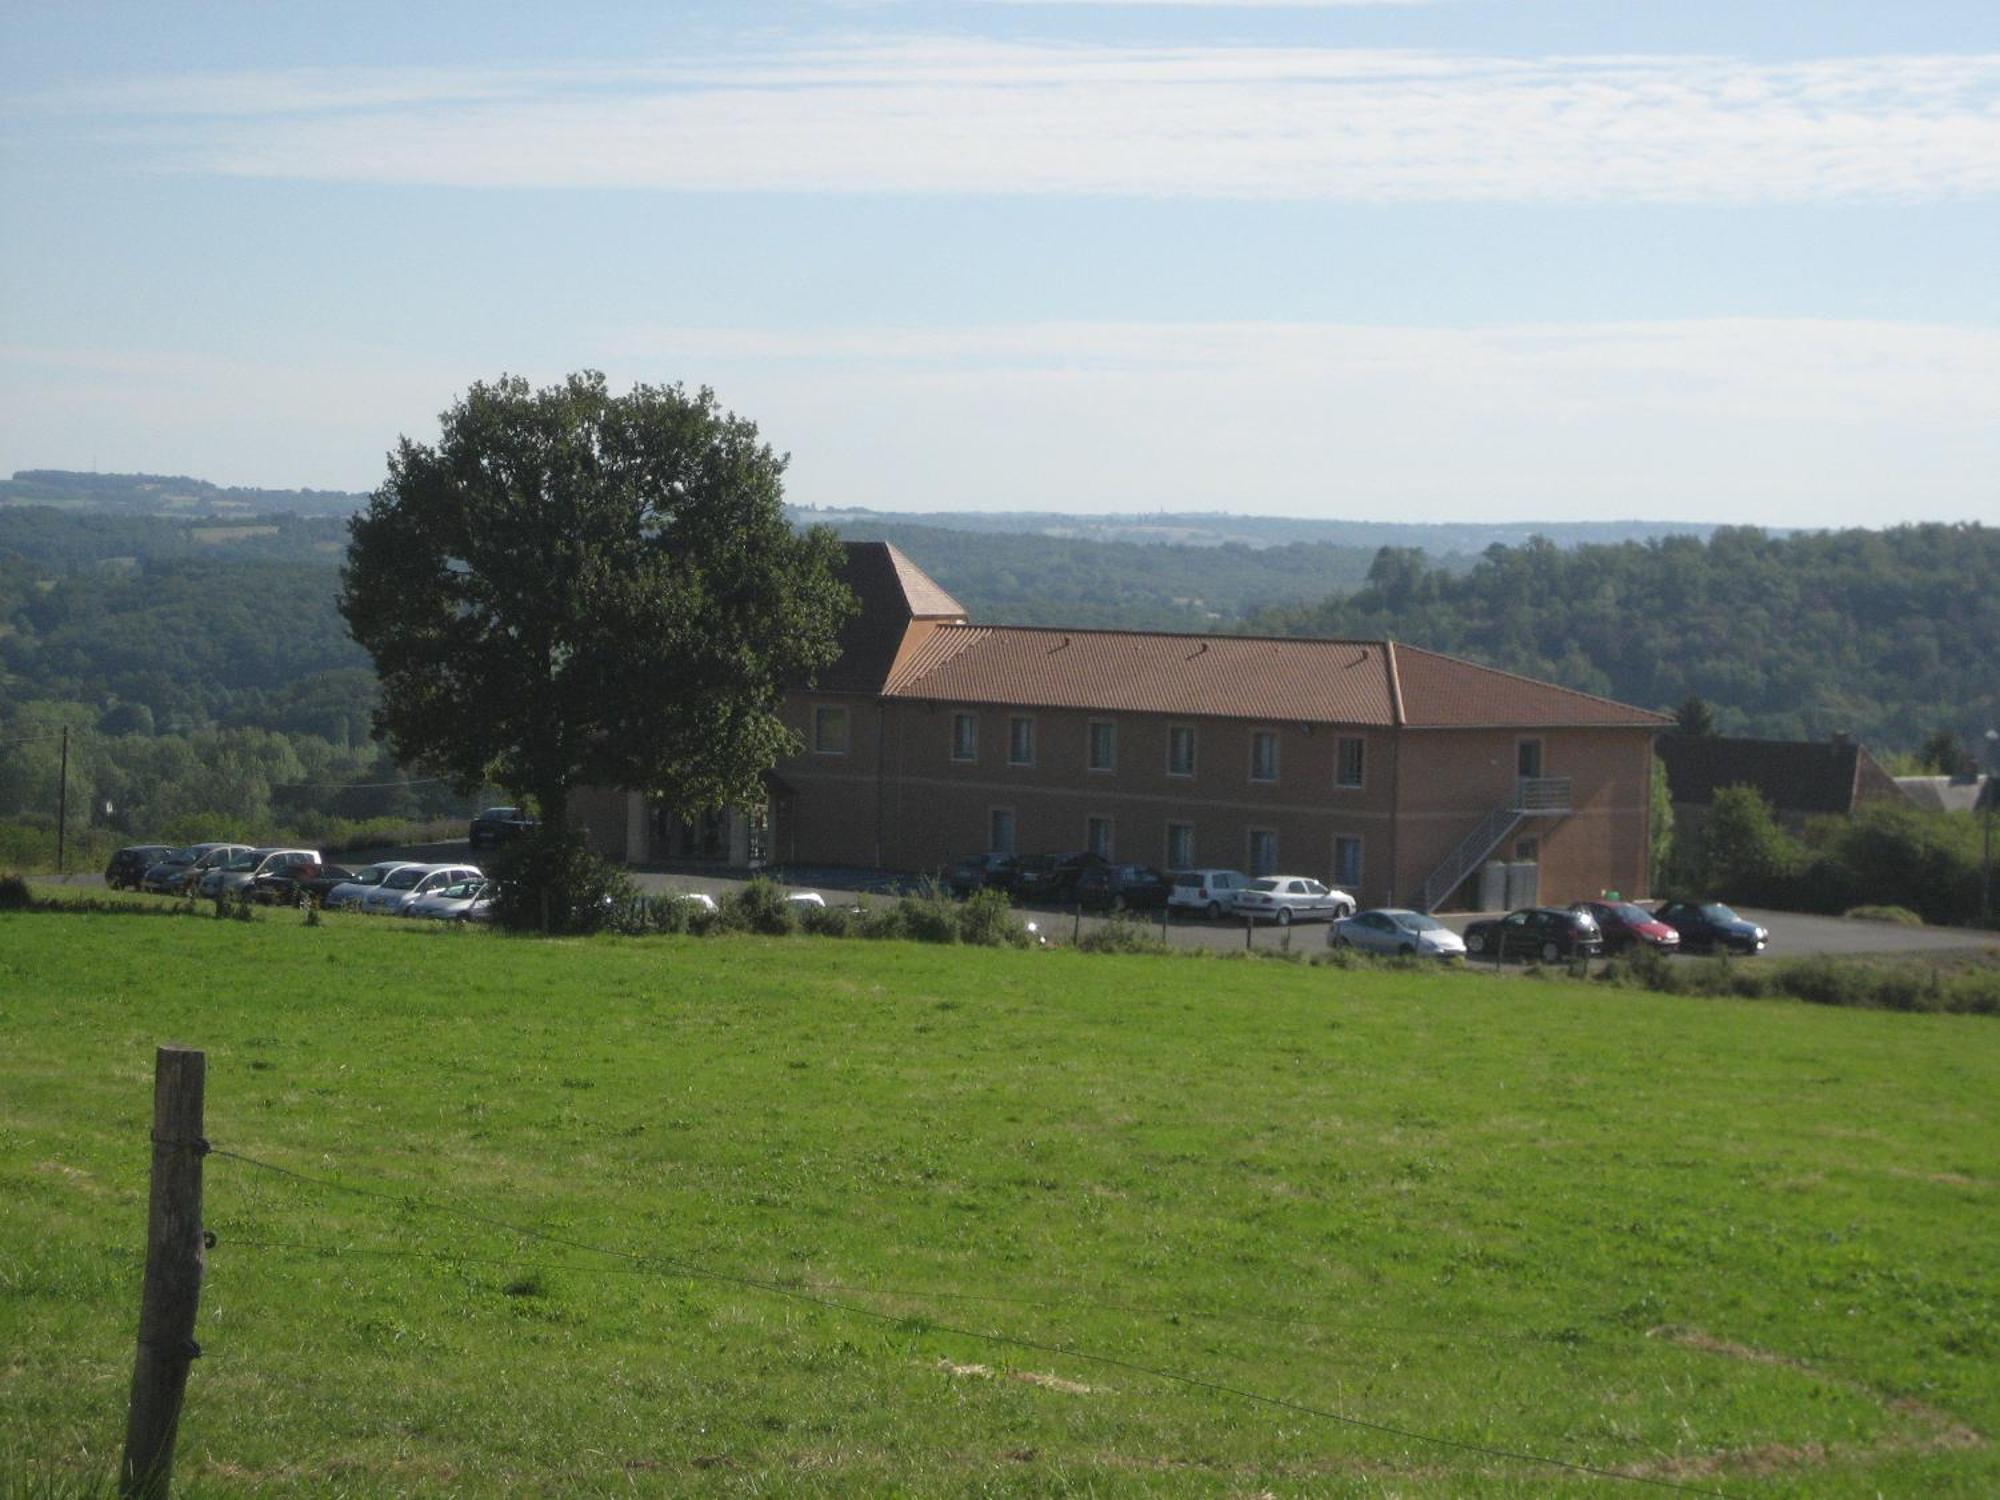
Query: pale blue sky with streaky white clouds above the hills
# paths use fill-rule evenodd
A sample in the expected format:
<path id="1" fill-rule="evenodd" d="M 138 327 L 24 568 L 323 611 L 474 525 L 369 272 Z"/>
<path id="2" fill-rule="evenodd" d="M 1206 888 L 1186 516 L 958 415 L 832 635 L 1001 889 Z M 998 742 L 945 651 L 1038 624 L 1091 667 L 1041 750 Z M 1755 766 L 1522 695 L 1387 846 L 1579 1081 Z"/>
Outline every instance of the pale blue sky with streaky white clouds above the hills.
<path id="1" fill-rule="evenodd" d="M 1992 0 L 0 0 L 0 470 L 712 386 L 878 510 L 2000 524 Z"/>

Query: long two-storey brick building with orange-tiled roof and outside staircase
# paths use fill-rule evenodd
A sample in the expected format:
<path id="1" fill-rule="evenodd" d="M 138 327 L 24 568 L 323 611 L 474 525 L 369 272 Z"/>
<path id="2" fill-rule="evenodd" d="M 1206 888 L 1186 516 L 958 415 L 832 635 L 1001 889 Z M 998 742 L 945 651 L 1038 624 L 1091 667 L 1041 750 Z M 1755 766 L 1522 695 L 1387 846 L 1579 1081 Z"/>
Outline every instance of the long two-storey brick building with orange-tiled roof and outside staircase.
<path id="1" fill-rule="evenodd" d="M 1468 904 L 1494 862 L 1540 900 L 1646 890 L 1662 714 L 1388 640 L 976 626 L 884 542 L 846 578 L 840 662 L 784 710 L 804 752 L 766 810 L 718 814 L 720 862 L 1094 848 L 1362 904 Z M 598 796 L 604 852 L 688 858 L 690 824 Z"/>

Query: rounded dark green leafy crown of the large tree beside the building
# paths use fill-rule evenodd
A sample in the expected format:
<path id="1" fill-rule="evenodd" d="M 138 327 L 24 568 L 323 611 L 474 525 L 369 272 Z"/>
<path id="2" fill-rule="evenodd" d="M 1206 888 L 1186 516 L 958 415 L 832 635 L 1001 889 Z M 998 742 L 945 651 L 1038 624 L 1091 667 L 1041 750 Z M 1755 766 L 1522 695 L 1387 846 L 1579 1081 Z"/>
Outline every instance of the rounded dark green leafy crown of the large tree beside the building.
<path id="1" fill-rule="evenodd" d="M 784 462 L 706 388 L 472 386 L 350 526 L 340 612 L 382 680 L 376 732 L 554 832 L 578 786 L 758 798 L 796 748 L 786 686 L 854 608 L 832 532 L 786 522 Z"/>

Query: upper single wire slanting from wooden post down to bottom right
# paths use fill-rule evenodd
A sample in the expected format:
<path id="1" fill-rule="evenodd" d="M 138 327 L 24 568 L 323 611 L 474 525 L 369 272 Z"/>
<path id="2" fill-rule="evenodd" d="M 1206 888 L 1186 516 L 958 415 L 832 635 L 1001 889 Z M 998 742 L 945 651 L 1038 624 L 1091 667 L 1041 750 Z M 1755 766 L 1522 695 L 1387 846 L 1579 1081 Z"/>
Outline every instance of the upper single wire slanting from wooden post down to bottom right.
<path id="1" fill-rule="evenodd" d="M 252 1166 L 252 1168 L 258 1168 L 258 1170 L 264 1170 L 264 1172 L 274 1172 L 278 1176 L 286 1176 L 286 1178 L 292 1178 L 296 1182 L 308 1182 L 308 1184 L 318 1186 L 318 1188 L 328 1188 L 332 1192 L 346 1192 L 346 1194 L 360 1196 L 360 1198 L 374 1198 L 374 1200 L 380 1200 L 380 1202 L 392 1202 L 392 1204 L 402 1206 L 406 1212 L 418 1212 L 418 1210 L 422 1210 L 422 1212 L 438 1214 L 438 1216 L 444 1216 L 444 1218 L 458 1218 L 458 1220 L 464 1220 L 464 1222 L 470 1222 L 470 1224 L 482 1224 L 486 1228 L 496 1228 L 496 1230 L 504 1230 L 508 1234 L 518 1234 L 518 1236 L 522 1236 L 526 1240 L 536 1240 L 536 1242 L 542 1242 L 542 1244 L 554 1244 L 554 1246 L 562 1246 L 562 1248 L 568 1248 L 568 1250 L 580 1250 L 584 1254 L 594 1254 L 594 1256 L 610 1256 L 614 1260 L 630 1262 L 632 1266 L 658 1268 L 658 1270 L 670 1272 L 674 1276 L 686 1276 L 690 1280 L 716 1282 L 716 1284 L 724 1284 L 724 1286 L 740 1286 L 740 1288 L 746 1288 L 746 1290 L 766 1292 L 770 1296 L 782 1296 L 782 1298 L 788 1298 L 792 1302 L 800 1302 L 800 1304 L 824 1308 L 828 1312 L 840 1312 L 840 1314 L 854 1316 L 854 1318 L 868 1318 L 868 1320 L 874 1320 L 874 1322 L 888 1322 L 888 1324 L 898 1324 L 898 1326 L 906 1326 L 906 1324 L 912 1322 L 912 1318 L 908 1318 L 904 1314 L 882 1312 L 878 1308 L 860 1306 L 856 1302 L 842 1302 L 838 1298 L 820 1296 L 816 1292 L 808 1292 L 808 1290 L 802 1290 L 802 1288 L 796 1288 L 796 1286 L 788 1286 L 786 1282 L 776 1282 L 776 1280 L 768 1280 L 768 1278 L 762 1278 L 762 1276 L 746 1276 L 746 1274 L 740 1274 L 740 1272 L 724 1272 L 724 1270 L 716 1270 L 712 1266 L 700 1266 L 700 1264 L 694 1264 L 694 1262 L 676 1260 L 672 1256 L 642 1254 L 638 1250 L 622 1250 L 618 1246 L 592 1244 L 588 1240 L 576 1240 L 576 1238 L 566 1236 L 566 1234 L 552 1234 L 548 1230 L 536 1230 L 536 1228 L 530 1228 L 526 1224 L 514 1224 L 510 1220 L 496 1218 L 494 1214 L 482 1214 L 482 1212 L 468 1210 L 468 1208 L 454 1208 L 452 1204 L 426 1202 L 424 1198 L 418 1198 L 412 1192 L 384 1192 L 384 1190 L 376 1190 L 376 1188 L 362 1188 L 362 1186 L 356 1186 L 356 1184 L 350 1184 L 350 1182 L 340 1182 L 336 1178 L 312 1176 L 310 1172 L 298 1172 L 298 1170 L 294 1170 L 290 1166 L 280 1166 L 278 1162 L 266 1162 L 262 1158 L 246 1156 L 244 1152 L 226 1150 L 222 1146 L 210 1146 L 210 1154 L 212 1156 L 222 1156 L 226 1160 L 242 1162 L 244 1166 Z M 1430 1446 L 1436 1446 L 1436 1448 L 1450 1448 L 1454 1452 L 1478 1454 L 1480 1458 L 1500 1458 L 1500 1460 L 1506 1460 L 1506 1462 L 1512 1462 L 1512 1464 L 1536 1464 L 1536 1466 L 1544 1466 L 1544 1468 L 1560 1468 L 1560 1470 L 1566 1470 L 1570 1474 L 1590 1474 L 1594 1478 L 1618 1480 L 1618 1482 L 1624 1482 L 1624 1484 L 1646 1484 L 1646 1486 L 1660 1488 L 1660 1490 L 1674 1490 L 1678 1494 L 1700 1494 L 1700 1496 L 1712 1496 L 1714 1500 L 1732 1500 L 1732 1496 L 1726 1490 L 1716 1490 L 1716 1488 L 1710 1488 L 1710 1486 L 1682 1484 L 1680 1480 L 1668 1480 L 1668 1478 L 1660 1478 L 1660 1476 L 1652 1476 L 1652 1474 L 1632 1474 L 1632 1472 L 1626 1472 L 1626 1470 L 1602 1468 L 1602 1466 L 1596 1466 L 1596 1464 L 1582 1464 L 1582 1462 L 1568 1460 L 1568 1458 L 1550 1458 L 1546 1454 L 1532 1454 L 1532 1452 L 1518 1450 L 1518 1448 L 1500 1448 L 1500 1446 L 1484 1444 L 1484 1442 L 1468 1442 L 1464 1438 L 1446 1438 L 1446 1436 L 1440 1436 L 1440 1434 L 1434 1434 L 1434 1432 L 1418 1432 L 1416 1428 L 1404 1428 L 1404 1426 L 1396 1426 L 1392 1422 L 1374 1422 L 1370 1418 L 1352 1416 L 1348 1412 L 1336 1412 L 1336 1410 L 1326 1408 L 1326 1406 L 1312 1406 L 1310 1402 L 1290 1400 L 1288 1396 L 1268 1396 L 1264 1392 L 1250 1390 L 1246 1386 L 1232 1386 L 1232 1384 L 1222 1382 L 1222 1380 L 1208 1380 L 1206 1376 L 1186 1374 L 1182 1370 L 1168 1370 L 1168 1368 L 1162 1368 L 1162 1366 L 1150 1366 L 1150 1364 L 1142 1364 L 1138 1360 L 1122 1358 L 1118 1354 L 1102 1354 L 1098 1350 L 1078 1348 L 1074 1344 L 1054 1344 L 1054 1342 L 1040 1340 L 1040 1338 L 1026 1338 L 1022 1334 L 1002 1334 L 1002 1332 L 980 1330 L 980 1328 L 960 1328 L 960 1326 L 954 1326 L 954 1324 L 936 1322 L 934 1318 L 924 1318 L 922 1324 L 930 1332 L 950 1334 L 954 1338 L 970 1338 L 970 1340 L 978 1340 L 978 1342 L 986 1342 L 986 1344 L 1000 1344 L 1000 1346 L 1008 1346 L 1008 1348 L 1024 1348 L 1024 1350 L 1034 1350 L 1038 1354 L 1056 1354 L 1060 1358 L 1078 1360 L 1082 1364 L 1096 1364 L 1096 1366 L 1104 1366 L 1104 1368 L 1110 1368 L 1110 1370 L 1124 1370 L 1128 1374 L 1138 1374 L 1138 1376 L 1146 1376 L 1146 1378 L 1152 1378 L 1152 1380 L 1164 1380 L 1164 1382 L 1170 1382 L 1170 1384 L 1180 1384 L 1180 1386 L 1186 1386 L 1190 1390 L 1206 1390 L 1206 1392 L 1212 1392 L 1212 1394 L 1218 1394 L 1218 1396 L 1234 1396 L 1234 1398 L 1250 1402 L 1254 1406 L 1270 1406 L 1270 1408 L 1284 1410 L 1284 1412 L 1296 1412 L 1300 1416 L 1316 1416 L 1316 1418 L 1326 1420 L 1326 1422 L 1334 1422 L 1334 1424 L 1348 1426 L 1348 1428 L 1358 1428 L 1358 1430 L 1364 1430 L 1364 1432 L 1376 1432 L 1376 1434 L 1390 1436 L 1390 1438 L 1400 1438 L 1404 1442 L 1420 1442 L 1420 1444 L 1430 1444 Z"/>

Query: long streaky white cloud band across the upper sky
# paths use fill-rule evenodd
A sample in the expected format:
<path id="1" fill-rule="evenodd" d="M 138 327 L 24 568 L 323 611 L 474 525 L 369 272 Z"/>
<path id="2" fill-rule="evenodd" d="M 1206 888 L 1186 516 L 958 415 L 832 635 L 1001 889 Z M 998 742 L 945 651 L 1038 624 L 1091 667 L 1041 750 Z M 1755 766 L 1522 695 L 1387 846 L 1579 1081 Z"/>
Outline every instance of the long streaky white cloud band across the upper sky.
<path id="1" fill-rule="evenodd" d="M 2000 192 L 2000 56 L 920 38 L 660 66 L 154 80 L 98 90 L 92 108 L 126 114 L 130 144 L 178 170 L 340 182 L 1432 202 Z"/>

